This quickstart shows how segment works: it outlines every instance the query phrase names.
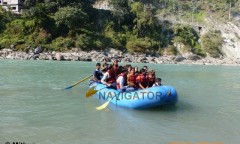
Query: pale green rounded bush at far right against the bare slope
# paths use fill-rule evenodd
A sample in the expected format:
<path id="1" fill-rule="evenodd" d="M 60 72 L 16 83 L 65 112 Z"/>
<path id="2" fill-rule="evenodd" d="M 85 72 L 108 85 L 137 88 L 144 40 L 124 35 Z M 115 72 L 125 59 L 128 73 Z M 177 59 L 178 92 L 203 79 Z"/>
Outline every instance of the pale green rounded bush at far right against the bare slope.
<path id="1" fill-rule="evenodd" d="M 211 30 L 202 36 L 202 47 L 211 57 L 219 58 L 222 53 L 223 38 L 221 31 Z"/>

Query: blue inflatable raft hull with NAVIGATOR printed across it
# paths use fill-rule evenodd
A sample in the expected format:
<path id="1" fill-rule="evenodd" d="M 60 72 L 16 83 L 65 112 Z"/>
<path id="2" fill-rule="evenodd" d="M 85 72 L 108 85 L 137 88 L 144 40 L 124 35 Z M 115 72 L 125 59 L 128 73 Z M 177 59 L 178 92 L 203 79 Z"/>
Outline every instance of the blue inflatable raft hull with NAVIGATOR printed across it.
<path id="1" fill-rule="evenodd" d="M 119 92 L 99 83 L 92 83 L 89 87 L 95 87 L 98 91 L 95 97 L 99 100 L 111 100 L 114 105 L 131 109 L 175 105 L 178 101 L 177 91 L 173 86 L 156 86 L 130 92 Z"/>

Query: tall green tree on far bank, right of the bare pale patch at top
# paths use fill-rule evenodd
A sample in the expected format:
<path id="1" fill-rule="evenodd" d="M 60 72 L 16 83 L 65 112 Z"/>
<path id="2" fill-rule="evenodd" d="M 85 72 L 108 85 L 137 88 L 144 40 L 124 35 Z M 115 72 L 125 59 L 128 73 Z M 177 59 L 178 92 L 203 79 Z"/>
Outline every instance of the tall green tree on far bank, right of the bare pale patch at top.
<path id="1" fill-rule="evenodd" d="M 131 5 L 131 12 L 135 15 L 134 30 L 138 38 L 141 38 L 138 48 L 147 46 L 148 50 L 155 52 L 162 45 L 162 27 L 159 25 L 156 15 L 156 8 L 152 4 L 135 2 Z M 132 45 L 133 43 L 131 43 Z M 136 44 L 136 43 L 135 43 Z M 141 46 L 140 46 L 141 44 Z M 129 46 L 129 43 L 128 43 Z"/>

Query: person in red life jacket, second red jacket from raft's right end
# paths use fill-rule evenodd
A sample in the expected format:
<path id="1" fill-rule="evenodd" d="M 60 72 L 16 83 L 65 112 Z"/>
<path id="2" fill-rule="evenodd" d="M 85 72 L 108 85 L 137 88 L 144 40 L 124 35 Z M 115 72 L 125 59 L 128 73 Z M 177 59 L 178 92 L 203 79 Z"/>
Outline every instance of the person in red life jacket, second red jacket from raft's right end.
<path id="1" fill-rule="evenodd" d="M 140 89 L 148 88 L 148 79 L 146 76 L 146 70 L 141 69 L 140 74 L 136 78 L 137 85 Z"/>

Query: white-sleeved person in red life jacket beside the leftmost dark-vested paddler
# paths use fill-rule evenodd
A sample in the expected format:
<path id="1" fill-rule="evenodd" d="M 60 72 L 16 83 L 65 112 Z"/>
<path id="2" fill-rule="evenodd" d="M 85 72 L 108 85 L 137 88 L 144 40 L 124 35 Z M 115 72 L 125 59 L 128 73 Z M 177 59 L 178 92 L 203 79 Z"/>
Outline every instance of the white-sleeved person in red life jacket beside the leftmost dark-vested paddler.
<path id="1" fill-rule="evenodd" d="M 105 84 L 107 87 L 116 88 L 116 75 L 114 73 L 113 66 L 108 65 L 107 71 L 103 69 L 102 72 L 104 74 L 101 79 L 101 83 Z"/>

